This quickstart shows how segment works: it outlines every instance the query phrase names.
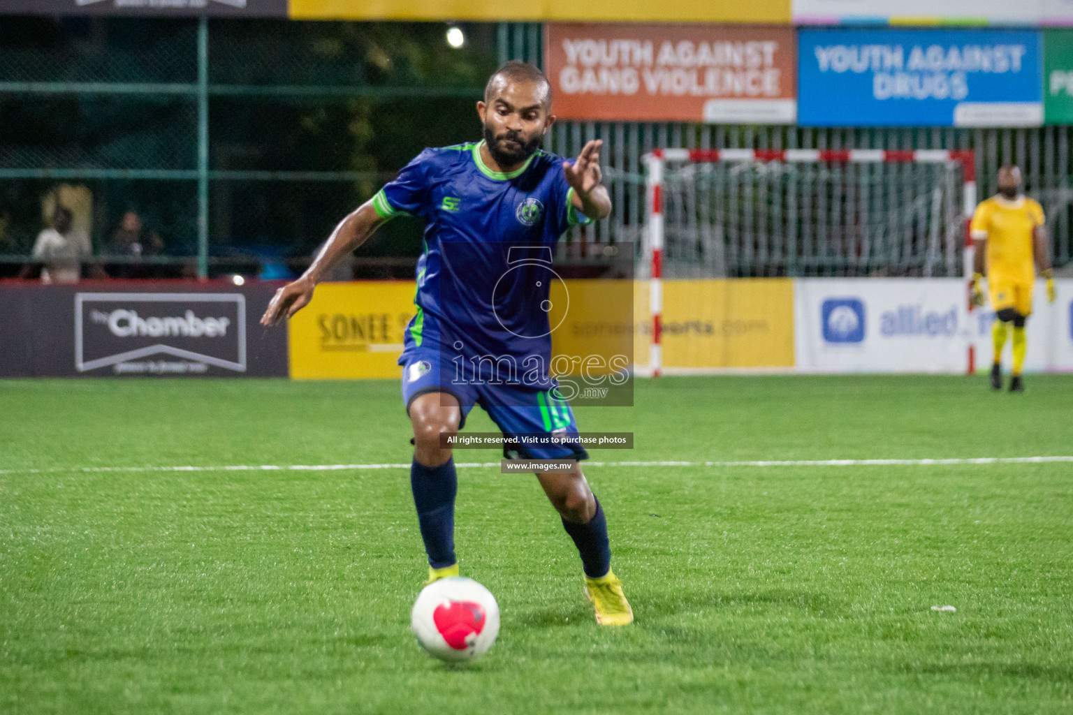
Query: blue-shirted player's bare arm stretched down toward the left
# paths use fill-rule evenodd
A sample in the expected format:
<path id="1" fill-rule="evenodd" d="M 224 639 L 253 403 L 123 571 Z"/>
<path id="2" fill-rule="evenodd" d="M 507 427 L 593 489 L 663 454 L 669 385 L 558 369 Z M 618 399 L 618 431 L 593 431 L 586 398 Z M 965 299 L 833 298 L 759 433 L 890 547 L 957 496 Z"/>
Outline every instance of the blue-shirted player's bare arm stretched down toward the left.
<path id="1" fill-rule="evenodd" d="M 276 325 L 309 304 L 313 298 L 313 288 L 321 278 L 341 258 L 364 243 L 386 220 L 377 211 L 373 199 L 370 198 L 340 221 L 306 272 L 276 292 L 271 302 L 268 303 L 268 310 L 261 316 L 261 325 Z"/>

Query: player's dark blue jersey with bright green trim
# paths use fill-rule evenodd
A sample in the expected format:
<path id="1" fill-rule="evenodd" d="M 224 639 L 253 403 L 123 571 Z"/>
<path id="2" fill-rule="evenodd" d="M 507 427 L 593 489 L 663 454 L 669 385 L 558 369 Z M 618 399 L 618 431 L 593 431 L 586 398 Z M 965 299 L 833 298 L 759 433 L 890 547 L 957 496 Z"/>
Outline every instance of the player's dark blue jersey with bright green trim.
<path id="1" fill-rule="evenodd" d="M 550 359 L 548 296 L 559 237 L 589 223 L 573 204 L 563 160 L 536 151 L 517 170 L 493 172 L 481 145 L 426 149 L 374 197 L 382 218 L 425 222 L 417 313 L 406 352 L 423 345 L 469 359 Z"/>

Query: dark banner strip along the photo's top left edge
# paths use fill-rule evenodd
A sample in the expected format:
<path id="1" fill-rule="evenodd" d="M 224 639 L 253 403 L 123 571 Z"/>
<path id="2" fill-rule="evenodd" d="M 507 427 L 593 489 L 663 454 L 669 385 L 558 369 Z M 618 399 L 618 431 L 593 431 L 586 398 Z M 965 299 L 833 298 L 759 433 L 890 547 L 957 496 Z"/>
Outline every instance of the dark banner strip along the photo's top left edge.
<path id="1" fill-rule="evenodd" d="M 286 17 L 288 0 L 0 0 L 8 15 Z"/>

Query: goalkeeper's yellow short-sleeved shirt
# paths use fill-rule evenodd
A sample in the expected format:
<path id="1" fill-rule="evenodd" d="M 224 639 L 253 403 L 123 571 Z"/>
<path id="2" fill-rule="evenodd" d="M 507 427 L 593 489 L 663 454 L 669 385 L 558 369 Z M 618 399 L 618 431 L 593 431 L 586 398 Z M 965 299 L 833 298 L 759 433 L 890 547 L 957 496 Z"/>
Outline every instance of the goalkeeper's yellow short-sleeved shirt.
<path id="1" fill-rule="evenodd" d="M 987 275 L 1031 283 L 1035 279 L 1033 234 L 1043 225 L 1043 207 L 1027 196 L 981 202 L 969 228 L 973 240 L 987 239 Z"/>

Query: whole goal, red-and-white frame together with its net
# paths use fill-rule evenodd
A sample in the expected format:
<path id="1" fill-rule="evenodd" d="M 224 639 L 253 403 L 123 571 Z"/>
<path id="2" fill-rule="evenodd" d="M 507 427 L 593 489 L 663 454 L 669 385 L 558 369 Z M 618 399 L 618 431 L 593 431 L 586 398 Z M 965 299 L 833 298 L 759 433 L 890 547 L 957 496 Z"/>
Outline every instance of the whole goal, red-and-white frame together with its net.
<path id="1" fill-rule="evenodd" d="M 664 277 L 793 277 L 832 265 L 844 275 L 958 275 L 973 310 L 971 151 L 658 148 L 643 161 L 651 343 L 641 372 L 664 372 Z"/>

